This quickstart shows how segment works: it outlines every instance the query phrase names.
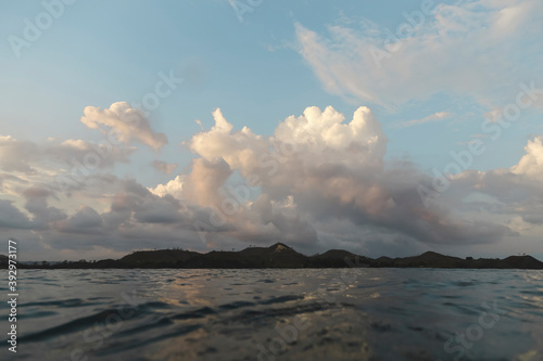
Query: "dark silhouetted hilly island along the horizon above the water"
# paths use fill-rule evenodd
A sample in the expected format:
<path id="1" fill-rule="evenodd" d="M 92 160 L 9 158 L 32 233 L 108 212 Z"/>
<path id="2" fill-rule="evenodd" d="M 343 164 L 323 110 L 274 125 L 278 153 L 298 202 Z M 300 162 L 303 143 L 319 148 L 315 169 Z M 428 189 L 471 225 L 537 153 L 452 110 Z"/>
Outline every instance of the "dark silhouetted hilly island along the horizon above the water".
<path id="1" fill-rule="evenodd" d="M 0 255 L 0 266 L 8 257 Z M 99 261 L 23 262 L 26 269 L 265 269 L 265 268 L 449 268 L 449 269 L 543 269 L 543 262 L 531 256 L 500 258 L 459 258 L 426 252 L 419 256 L 369 258 L 343 249 L 305 256 L 292 247 L 276 243 L 269 247 L 249 247 L 239 252 L 198 253 L 184 249 L 137 250 L 121 259 Z"/>

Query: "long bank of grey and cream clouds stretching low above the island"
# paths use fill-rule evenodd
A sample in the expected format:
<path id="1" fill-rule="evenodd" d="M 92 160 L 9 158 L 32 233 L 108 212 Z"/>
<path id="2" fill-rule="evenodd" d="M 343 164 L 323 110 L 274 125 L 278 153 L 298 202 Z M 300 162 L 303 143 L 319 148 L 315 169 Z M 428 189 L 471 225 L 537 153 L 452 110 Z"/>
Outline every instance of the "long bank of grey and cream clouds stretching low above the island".
<path id="1" fill-rule="evenodd" d="M 64 171 L 53 160 L 89 143 L 2 137 L 0 184 L 24 202 L 0 202 L 0 228 L 36 240 L 36 252 L 229 249 L 281 241 L 307 253 L 343 247 L 379 256 L 470 249 L 543 227 L 543 137 L 528 142 L 514 167 L 464 171 L 425 207 L 417 188 L 433 179 L 415 164 L 384 160 L 389 141 L 368 107 L 348 119 L 331 106 L 311 106 L 280 121 L 273 136 L 235 130 L 220 109 L 213 118 L 211 129 L 184 142 L 194 158 L 169 181 L 143 186 L 101 171 L 67 197 L 52 183 Z M 25 162 L 17 166 L 9 155 L 20 150 Z M 109 162 L 130 152 L 122 146 Z"/>

